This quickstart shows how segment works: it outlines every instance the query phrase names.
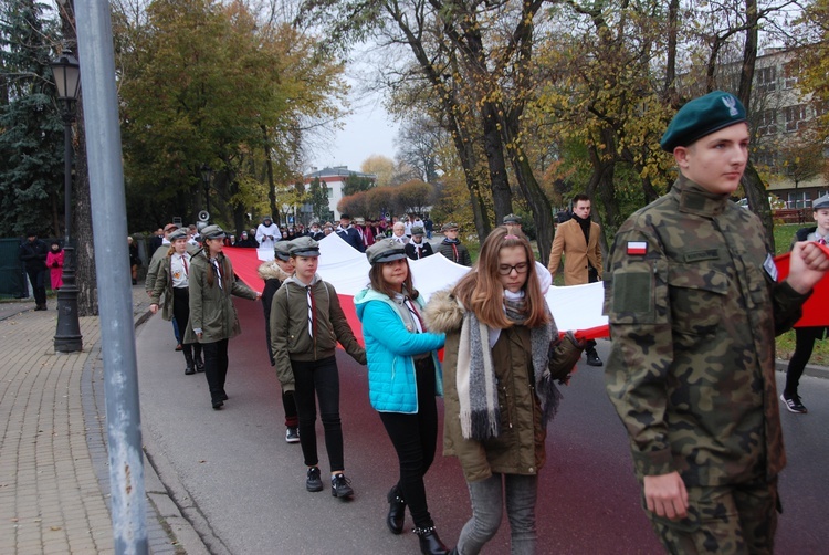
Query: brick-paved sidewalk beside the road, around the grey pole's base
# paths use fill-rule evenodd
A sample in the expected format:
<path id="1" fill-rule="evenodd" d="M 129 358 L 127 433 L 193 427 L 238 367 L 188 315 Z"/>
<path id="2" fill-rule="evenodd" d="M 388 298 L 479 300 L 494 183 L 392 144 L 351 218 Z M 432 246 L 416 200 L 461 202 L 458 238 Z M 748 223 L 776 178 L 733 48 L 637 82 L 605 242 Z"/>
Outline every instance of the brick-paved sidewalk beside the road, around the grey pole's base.
<path id="1" fill-rule="evenodd" d="M 139 325 L 148 300 L 133 297 Z M 0 553 L 114 553 L 98 318 L 81 318 L 82 353 L 55 353 L 48 305 L 0 304 Z M 144 473 L 150 553 L 207 553 L 146 457 Z"/>

